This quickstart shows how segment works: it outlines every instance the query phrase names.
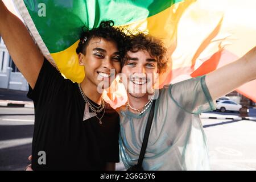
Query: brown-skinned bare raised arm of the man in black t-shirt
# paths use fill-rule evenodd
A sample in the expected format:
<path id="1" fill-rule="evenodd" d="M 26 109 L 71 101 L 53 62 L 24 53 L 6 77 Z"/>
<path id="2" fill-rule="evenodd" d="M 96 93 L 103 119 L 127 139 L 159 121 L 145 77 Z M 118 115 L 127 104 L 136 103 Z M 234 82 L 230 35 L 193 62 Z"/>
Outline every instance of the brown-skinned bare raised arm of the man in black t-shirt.
<path id="1" fill-rule="evenodd" d="M 0 36 L 2 36 L 16 67 L 31 88 L 34 88 L 43 65 L 43 55 L 32 40 L 26 26 L 7 10 L 2 0 L 0 0 Z"/>

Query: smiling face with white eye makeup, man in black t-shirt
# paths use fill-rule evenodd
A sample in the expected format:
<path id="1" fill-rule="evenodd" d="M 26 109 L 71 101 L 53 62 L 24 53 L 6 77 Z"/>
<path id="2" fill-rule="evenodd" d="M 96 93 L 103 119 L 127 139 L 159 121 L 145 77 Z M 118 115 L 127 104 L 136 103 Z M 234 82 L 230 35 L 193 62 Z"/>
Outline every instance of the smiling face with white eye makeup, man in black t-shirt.
<path id="1" fill-rule="evenodd" d="M 86 81 L 95 86 L 103 81 L 106 89 L 121 71 L 117 44 L 104 38 L 90 39 L 85 53 L 79 53 L 79 64 L 84 65 Z"/>

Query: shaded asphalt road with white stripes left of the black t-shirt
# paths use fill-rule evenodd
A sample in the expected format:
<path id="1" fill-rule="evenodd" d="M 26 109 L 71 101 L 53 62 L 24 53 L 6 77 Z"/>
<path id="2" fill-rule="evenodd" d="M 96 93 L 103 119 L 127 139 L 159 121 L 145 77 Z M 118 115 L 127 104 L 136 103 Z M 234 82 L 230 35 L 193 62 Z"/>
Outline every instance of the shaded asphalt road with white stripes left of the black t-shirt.
<path id="1" fill-rule="evenodd" d="M 34 109 L 0 107 L 0 170 L 23 170 L 29 163 Z"/>

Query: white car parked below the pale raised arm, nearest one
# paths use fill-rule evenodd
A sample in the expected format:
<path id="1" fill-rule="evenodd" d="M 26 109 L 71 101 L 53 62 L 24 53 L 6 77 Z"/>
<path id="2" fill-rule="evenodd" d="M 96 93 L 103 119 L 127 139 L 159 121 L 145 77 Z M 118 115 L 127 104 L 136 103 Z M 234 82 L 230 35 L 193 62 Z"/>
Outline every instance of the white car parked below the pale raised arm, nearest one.
<path id="1" fill-rule="evenodd" d="M 217 110 L 220 110 L 222 113 L 224 113 L 226 110 L 240 111 L 240 109 L 242 108 L 242 105 L 237 104 L 236 102 L 231 100 L 222 100 L 217 102 L 216 108 Z"/>

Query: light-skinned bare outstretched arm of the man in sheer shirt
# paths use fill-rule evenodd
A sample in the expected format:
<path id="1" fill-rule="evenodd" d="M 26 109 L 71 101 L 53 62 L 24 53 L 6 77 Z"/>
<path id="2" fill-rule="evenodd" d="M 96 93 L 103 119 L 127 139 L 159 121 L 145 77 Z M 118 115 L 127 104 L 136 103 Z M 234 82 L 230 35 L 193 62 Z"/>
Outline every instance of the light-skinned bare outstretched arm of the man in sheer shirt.
<path id="1" fill-rule="evenodd" d="M 205 76 L 205 82 L 213 100 L 254 79 L 256 79 L 256 47 L 237 61 Z"/>

